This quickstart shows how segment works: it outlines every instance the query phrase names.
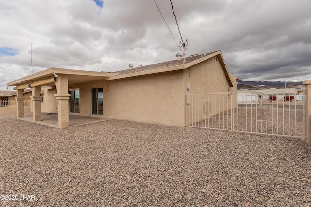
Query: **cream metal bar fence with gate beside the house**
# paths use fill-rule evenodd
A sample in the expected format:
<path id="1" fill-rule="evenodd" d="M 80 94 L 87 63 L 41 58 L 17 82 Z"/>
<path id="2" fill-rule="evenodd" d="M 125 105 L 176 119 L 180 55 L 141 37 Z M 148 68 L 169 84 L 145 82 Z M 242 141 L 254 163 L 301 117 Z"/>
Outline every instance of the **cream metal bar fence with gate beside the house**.
<path id="1" fill-rule="evenodd" d="M 304 110 L 303 89 L 187 94 L 185 125 L 304 137 Z"/>

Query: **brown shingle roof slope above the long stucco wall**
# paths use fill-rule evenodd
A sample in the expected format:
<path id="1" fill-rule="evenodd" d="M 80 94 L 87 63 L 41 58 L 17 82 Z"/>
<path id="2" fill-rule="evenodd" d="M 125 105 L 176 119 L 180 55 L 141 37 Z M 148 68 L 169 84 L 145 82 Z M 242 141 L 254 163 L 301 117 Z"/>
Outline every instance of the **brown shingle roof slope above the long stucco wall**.
<path id="1" fill-rule="evenodd" d="M 210 55 L 212 53 L 214 53 L 214 52 L 205 53 L 205 55 Z M 202 58 L 205 55 L 204 54 L 202 54 L 202 55 L 191 55 L 190 57 L 186 57 L 185 63 L 184 63 L 184 59 L 182 58 L 181 60 L 176 59 L 176 60 L 166 61 L 166 62 L 157 63 L 157 64 L 150 64 L 150 65 L 145 65 L 145 66 L 141 66 L 141 67 L 135 67 L 131 70 L 125 69 L 125 70 L 121 70 L 121 71 L 116 71 L 114 73 L 119 73 L 119 75 L 123 75 L 123 74 L 136 73 L 136 72 L 145 71 L 145 70 L 152 70 L 152 69 L 163 68 L 163 67 L 183 65 L 183 64 L 187 64 L 189 62 L 195 61 L 199 58 Z"/>

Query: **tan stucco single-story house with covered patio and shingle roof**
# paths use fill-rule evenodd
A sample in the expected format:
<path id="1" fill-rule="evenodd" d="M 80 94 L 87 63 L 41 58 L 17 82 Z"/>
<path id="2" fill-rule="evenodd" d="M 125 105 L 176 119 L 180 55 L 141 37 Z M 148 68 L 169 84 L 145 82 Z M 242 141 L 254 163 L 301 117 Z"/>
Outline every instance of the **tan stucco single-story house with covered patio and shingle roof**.
<path id="1" fill-rule="evenodd" d="M 117 72 L 52 67 L 7 83 L 17 90 L 17 118 L 30 87 L 33 121 L 57 112 L 60 128 L 69 114 L 184 126 L 187 94 L 236 91 L 236 84 L 220 51 Z"/>

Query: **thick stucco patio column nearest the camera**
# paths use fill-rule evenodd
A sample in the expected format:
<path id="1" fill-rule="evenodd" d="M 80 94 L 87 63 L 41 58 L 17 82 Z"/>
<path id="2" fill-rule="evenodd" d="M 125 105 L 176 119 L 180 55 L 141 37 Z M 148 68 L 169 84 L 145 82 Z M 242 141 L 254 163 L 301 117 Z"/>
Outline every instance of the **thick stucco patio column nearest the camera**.
<path id="1" fill-rule="evenodd" d="M 58 128 L 64 128 L 69 126 L 69 98 L 68 93 L 68 78 L 67 75 L 59 74 L 57 81 L 55 82 L 57 94 L 55 98 L 57 101 L 57 117 Z"/>

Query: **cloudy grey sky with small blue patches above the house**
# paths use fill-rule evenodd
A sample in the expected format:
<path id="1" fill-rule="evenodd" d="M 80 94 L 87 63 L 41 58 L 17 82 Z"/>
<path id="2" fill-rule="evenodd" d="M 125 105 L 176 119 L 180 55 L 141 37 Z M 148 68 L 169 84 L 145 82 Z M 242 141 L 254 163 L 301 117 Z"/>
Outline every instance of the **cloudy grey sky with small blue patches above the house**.
<path id="1" fill-rule="evenodd" d="M 1 0 L 0 90 L 50 67 L 118 71 L 173 60 L 170 0 Z M 311 0 L 172 0 L 186 56 L 221 50 L 240 80 L 311 80 Z M 11 87 L 9 89 L 12 90 Z"/>

